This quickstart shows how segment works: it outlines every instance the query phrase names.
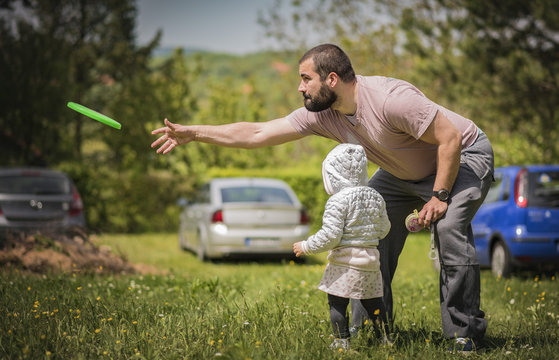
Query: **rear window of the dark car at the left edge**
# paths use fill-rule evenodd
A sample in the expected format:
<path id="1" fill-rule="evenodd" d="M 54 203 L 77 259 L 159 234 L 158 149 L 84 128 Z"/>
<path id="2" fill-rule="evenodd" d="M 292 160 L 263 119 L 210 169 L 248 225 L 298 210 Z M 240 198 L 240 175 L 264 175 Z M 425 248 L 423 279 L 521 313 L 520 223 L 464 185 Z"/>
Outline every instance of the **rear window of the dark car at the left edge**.
<path id="1" fill-rule="evenodd" d="M 0 193 L 33 195 L 70 194 L 71 185 L 68 179 L 60 176 L 1 176 Z"/>

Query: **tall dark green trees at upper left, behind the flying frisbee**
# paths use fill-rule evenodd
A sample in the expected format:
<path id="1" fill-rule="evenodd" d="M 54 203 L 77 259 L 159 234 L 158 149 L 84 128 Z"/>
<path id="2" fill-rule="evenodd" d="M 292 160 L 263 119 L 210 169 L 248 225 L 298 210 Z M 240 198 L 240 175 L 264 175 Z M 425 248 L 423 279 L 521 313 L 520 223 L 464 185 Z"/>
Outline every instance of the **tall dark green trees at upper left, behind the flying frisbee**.
<path id="1" fill-rule="evenodd" d="M 0 6 L 0 136 L 9 155 L 3 161 L 79 159 L 84 119 L 66 102 L 102 110 L 90 90 L 145 71 L 159 37 L 136 48 L 133 0 L 5 0 Z"/>

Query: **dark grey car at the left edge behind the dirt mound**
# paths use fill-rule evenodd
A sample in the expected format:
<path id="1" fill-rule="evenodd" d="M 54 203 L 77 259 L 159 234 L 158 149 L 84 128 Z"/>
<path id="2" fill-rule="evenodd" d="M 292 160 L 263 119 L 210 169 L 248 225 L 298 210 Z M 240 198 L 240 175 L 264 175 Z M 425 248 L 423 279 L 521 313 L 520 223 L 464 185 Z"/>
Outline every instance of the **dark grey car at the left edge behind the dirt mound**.
<path id="1" fill-rule="evenodd" d="M 9 231 L 85 228 L 83 203 L 64 173 L 0 168 L 0 235 Z"/>

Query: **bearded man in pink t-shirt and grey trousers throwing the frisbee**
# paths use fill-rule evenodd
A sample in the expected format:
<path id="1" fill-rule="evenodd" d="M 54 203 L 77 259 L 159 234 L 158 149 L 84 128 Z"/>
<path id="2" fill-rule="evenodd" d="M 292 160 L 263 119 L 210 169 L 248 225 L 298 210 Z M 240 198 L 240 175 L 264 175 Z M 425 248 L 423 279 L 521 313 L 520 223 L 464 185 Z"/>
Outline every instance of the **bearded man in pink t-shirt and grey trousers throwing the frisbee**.
<path id="1" fill-rule="evenodd" d="M 493 174 L 493 151 L 471 121 L 435 104 L 413 85 L 380 76 L 356 76 L 337 46 L 319 45 L 299 61 L 304 108 L 264 123 L 181 126 L 165 119 L 152 147 L 166 154 L 200 141 L 256 148 L 319 135 L 362 145 L 379 170 L 369 181 L 385 199 L 392 228 L 381 241 L 381 270 L 388 317 L 391 281 L 416 208 L 430 227 L 441 262 L 440 299 L 444 335 L 463 351 L 475 350 L 487 321 L 479 309 L 480 274 L 470 222 Z"/>

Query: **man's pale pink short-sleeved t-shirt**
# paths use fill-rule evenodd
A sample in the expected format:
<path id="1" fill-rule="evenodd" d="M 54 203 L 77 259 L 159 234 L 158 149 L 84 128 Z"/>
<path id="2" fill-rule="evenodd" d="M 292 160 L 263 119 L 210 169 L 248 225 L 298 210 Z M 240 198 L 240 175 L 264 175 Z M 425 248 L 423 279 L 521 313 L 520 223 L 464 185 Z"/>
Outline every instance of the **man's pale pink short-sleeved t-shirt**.
<path id="1" fill-rule="evenodd" d="M 437 146 L 419 138 L 441 111 L 462 133 L 462 147 L 474 143 L 477 126 L 429 100 L 410 83 L 383 76 L 357 76 L 355 125 L 342 113 L 299 108 L 287 116 L 302 135 L 360 144 L 369 161 L 403 180 L 419 180 L 436 171 Z"/>

